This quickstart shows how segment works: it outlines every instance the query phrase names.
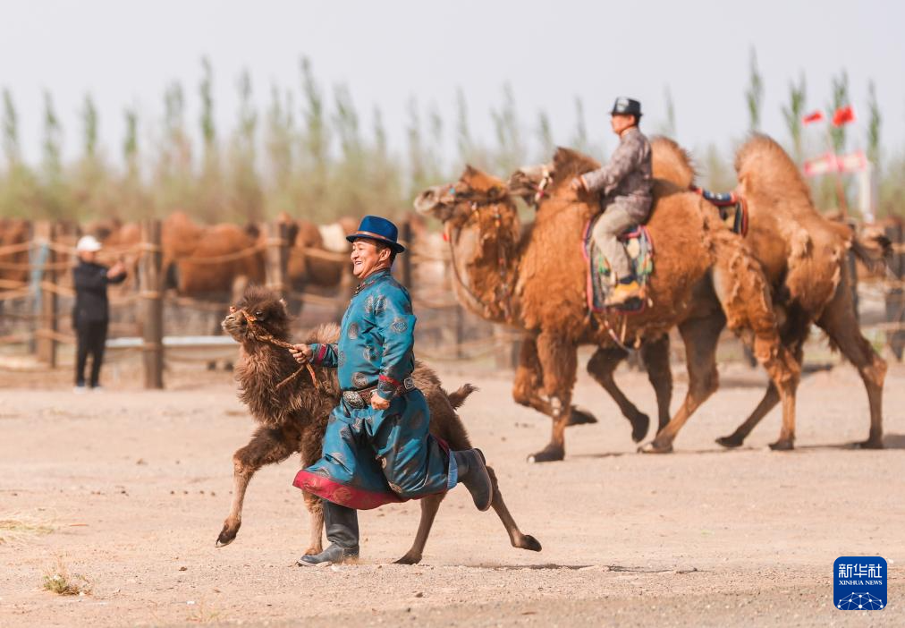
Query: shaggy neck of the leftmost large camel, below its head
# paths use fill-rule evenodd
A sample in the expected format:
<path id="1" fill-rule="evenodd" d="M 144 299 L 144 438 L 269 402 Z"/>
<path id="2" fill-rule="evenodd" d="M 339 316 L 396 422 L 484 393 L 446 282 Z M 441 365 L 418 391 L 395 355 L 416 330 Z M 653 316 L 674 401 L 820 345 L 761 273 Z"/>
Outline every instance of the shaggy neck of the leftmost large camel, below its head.
<path id="1" fill-rule="evenodd" d="M 521 247 L 515 228 L 499 224 L 452 229 L 452 283 L 459 301 L 482 319 L 517 325 Z"/>

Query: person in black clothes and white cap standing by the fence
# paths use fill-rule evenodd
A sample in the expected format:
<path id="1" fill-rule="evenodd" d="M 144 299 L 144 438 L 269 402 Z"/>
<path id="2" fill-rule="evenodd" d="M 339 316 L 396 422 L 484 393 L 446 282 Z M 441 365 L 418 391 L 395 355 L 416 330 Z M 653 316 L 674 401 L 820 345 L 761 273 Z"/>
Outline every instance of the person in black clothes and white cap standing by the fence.
<path id="1" fill-rule="evenodd" d="M 126 279 L 126 266 L 116 262 L 110 268 L 95 260 L 100 242 L 93 235 L 86 235 L 75 247 L 79 265 L 72 271 L 75 285 L 75 307 L 72 309 L 72 328 L 75 329 L 75 392 L 85 392 L 85 364 L 91 354 L 91 389 L 100 388 L 100 365 L 104 360 L 107 343 L 107 326 L 110 323 L 110 303 L 107 300 L 107 284 Z"/>

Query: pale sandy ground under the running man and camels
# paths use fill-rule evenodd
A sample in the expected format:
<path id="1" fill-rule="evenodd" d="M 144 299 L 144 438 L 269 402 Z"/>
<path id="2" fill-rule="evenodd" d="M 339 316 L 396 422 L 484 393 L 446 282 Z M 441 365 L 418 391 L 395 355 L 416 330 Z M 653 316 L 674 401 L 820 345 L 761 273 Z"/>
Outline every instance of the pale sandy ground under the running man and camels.
<path id="1" fill-rule="evenodd" d="M 68 374 L 2 375 L 0 625 L 905 624 L 900 366 L 887 379 L 885 451 L 843 446 L 868 425 L 849 366 L 805 378 L 797 451 L 767 450 L 776 412 L 747 447 L 720 450 L 713 439 L 762 392 L 758 371 L 734 366 L 668 456 L 635 453 L 628 423 L 583 375 L 576 400 L 601 422 L 571 428 L 567 460 L 547 465 L 525 456 L 547 442 L 548 420 L 510 401 L 508 377 L 447 370 L 448 385 L 481 385 L 462 417 L 543 551 L 510 547 L 492 511 L 457 489 L 421 565 L 391 564 L 414 537 L 408 503 L 362 514 L 361 564 L 319 569 L 295 566 L 308 530 L 296 461 L 252 481 L 238 538 L 214 548 L 231 455 L 252 422 L 228 375 L 186 373 L 167 392 L 119 376 L 93 395 L 71 394 Z M 644 376 L 620 382 L 653 414 Z M 683 393 L 679 377 L 673 408 Z M 834 559 L 853 555 L 889 561 L 885 610 L 834 608 Z M 60 563 L 90 595 L 43 590 Z"/>

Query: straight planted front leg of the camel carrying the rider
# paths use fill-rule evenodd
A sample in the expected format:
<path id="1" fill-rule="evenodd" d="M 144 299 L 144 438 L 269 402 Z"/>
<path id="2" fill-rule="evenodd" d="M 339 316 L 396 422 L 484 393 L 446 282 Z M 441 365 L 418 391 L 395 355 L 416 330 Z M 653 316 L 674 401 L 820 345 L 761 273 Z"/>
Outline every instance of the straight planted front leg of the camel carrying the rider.
<path id="1" fill-rule="evenodd" d="M 575 387 L 577 350 L 574 342 L 556 334 L 538 336 L 538 361 L 544 374 L 543 394 L 550 399 L 553 431 L 541 451 L 529 455 L 529 462 L 562 460 L 566 455 L 566 426 L 569 422 L 572 389 Z"/>

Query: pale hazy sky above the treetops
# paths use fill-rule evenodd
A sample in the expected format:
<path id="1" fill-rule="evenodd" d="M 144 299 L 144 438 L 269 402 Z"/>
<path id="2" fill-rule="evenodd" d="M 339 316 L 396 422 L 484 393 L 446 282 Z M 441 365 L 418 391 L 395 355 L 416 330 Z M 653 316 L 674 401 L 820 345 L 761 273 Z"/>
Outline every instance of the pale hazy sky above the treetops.
<path id="1" fill-rule="evenodd" d="M 883 139 L 905 138 L 905 3 L 865 0 L 754 2 L 254 2 L 0 0 L 0 86 L 20 111 L 26 157 L 40 154 L 43 90 L 55 99 L 68 155 L 79 149 L 86 91 L 100 109 L 102 142 L 119 158 L 123 109 L 138 107 L 142 138 L 162 114 L 169 81 L 182 81 L 197 128 L 202 55 L 214 65 L 221 137 L 236 116 L 235 82 L 252 72 L 266 107 L 271 83 L 298 90 L 307 55 L 324 87 L 348 83 L 370 128 L 379 106 L 396 150 L 405 143 L 407 101 L 436 103 L 452 153 L 456 88 L 467 95 L 472 134 L 493 142 L 489 111 L 502 85 L 516 96 L 524 131 L 548 111 L 559 143 L 575 127 L 576 95 L 595 141 L 614 146 L 605 111 L 616 95 L 643 102 L 644 126 L 675 103 L 677 136 L 688 147 L 729 147 L 748 128 L 744 90 L 753 45 L 765 81 L 762 128 L 786 138 L 780 106 L 804 72 L 808 108 L 829 100 L 831 77 L 847 70 L 864 137 L 868 81 L 877 84 Z"/>

